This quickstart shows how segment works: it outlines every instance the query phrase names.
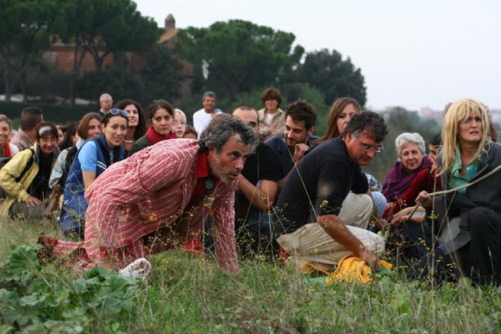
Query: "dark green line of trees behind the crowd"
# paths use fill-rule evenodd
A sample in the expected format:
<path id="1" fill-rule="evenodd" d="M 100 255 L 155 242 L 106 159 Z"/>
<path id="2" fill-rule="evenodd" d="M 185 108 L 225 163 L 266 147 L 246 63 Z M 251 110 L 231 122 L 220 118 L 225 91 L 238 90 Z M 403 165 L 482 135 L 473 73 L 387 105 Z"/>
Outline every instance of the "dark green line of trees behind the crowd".
<path id="1" fill-rule="evenodd" d="M 115 99 L 143 103 L 167 99 L 190 115 L 205 90 L 216 92 L 220 106 L 230 108 L 242 97 L 259 97 L 268 86 L 282 90 L 285 101 L 321 101 L 320 109 L 342 96 L 361 105 L 366 101 L 364 77 L 350 58 L 336 50 L 305 52 L 294 44 L 294 34 L 252 22 L 180 29 L 175 47 L 168 48 L 157 43 L 163 29 L 131 0 L 0 0 L 0 8 L 0 91 L 7 101 L 21 92 L 74 103 L 76 97 L 95 100 L 107 91 Z M 70 73 L 42 59 L 42 51 L 56 40 L 74 48 Z M 130 73 L 124 66 L 127 51 L 145 52 L 140 72 Z M 95 70 L 80 76 L 86 54 Z M 106 67 L 109 54 L 114 62 Z M 186 80 L 182 61 L 193 64 L 191 99 L 181 99 Z"/>

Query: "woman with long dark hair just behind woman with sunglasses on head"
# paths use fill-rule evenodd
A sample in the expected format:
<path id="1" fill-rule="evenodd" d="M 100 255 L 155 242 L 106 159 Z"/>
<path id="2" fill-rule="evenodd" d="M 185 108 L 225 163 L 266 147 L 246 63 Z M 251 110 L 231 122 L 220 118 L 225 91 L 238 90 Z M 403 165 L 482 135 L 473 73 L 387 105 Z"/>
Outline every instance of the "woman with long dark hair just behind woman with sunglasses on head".
<path id="1" fill-rule="evenodd" d="M 129 112 L 129 125 L 123 142 L 125 151 L 129 152 L 132 144 L 146 133 L 146 117 L 141 104 L 134 100 L 121 100 L 115 108 Z"/>

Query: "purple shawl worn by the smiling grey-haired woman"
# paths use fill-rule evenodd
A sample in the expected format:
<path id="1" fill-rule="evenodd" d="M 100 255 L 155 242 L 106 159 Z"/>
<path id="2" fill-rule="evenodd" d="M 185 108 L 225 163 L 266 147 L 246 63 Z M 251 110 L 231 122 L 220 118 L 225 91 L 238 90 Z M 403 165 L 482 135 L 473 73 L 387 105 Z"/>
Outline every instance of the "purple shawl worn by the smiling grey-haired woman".
<path id="1" fill-rule="evenodd" d="M 413 172 L 408 172 L 404 168 L 404 165 L 400 161 L 395 162 L 390 172 L 386 174 L 385 181 L 383 183 L 383 195 L 390 201 L 396 201 L 401 198 L 411 183 L 415 176 L 425 168 L 431 167 L 431 161 L 428 156 L 424 156 L 421 166 L 415 169 Z"/>

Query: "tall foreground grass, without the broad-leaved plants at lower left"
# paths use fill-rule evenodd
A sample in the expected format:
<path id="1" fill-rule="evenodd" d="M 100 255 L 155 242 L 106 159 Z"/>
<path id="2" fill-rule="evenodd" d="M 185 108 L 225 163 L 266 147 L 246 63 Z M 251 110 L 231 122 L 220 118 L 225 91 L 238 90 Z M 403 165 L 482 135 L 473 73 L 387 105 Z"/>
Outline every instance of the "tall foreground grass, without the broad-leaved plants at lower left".
<path id="1" fill-rule="evenodd" d="M 2 222 L 0 257 L 40 233 L 57 232 L 43 222 Z M 61 333 L 501 333 L 500 288 L 466 280 L 431 289 L 406 281 L 397 269 L 369 285 L 309 285 L 293 267 L 260 258 L 242 261 L 237 275 L 221 272 L 212 258 L 181 251 L 151 262 L 150 279 L 135 283 L 132 311 L 88 314 L 81 328 Z M 54 286 L 81 277 L 56 264 L 39 274 Z M 3 317 L 6 312 L 0 307 Z"/>

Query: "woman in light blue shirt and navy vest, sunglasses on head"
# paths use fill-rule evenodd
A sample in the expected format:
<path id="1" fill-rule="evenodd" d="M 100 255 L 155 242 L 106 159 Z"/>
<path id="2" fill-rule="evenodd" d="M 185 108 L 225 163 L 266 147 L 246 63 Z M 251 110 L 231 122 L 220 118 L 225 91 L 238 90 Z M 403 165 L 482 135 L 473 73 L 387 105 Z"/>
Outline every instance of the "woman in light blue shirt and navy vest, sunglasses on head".
<path id="1" fill-rule="evenodd" d="M 127 133 L 128 117 L 127 111 L 109 110 L 102 118 L 102 133 L 79 149 L 64 187 L 60 220 L 63 233 L 84 233 L 88 206 L 84 192 L 112 163 L 125 159 L 122 143 Z"/>

